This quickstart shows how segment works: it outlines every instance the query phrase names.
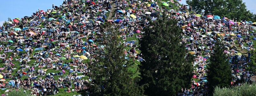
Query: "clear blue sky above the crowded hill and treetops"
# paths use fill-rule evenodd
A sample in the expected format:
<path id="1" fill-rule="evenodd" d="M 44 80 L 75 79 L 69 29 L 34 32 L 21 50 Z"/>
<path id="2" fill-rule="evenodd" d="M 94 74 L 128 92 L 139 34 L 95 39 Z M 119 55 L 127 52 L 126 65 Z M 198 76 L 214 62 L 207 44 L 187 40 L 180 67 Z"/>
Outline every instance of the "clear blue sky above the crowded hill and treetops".
<path id="1" fill-rule="evenodd" d="M 243 0 L 247 9 L 256 13 L 256 0 Z M 40 10 L 47 10 L 52 8 L 52 4 L 59 6 L 63 0 L 1 0 L 0 3 L 0 25 L 8 17 L 11 19 L 22 18 L 24 16 L 31 16 L 38 8 Z M 186 4 L 186 0 L 181 0 L 180 3 Z"/>

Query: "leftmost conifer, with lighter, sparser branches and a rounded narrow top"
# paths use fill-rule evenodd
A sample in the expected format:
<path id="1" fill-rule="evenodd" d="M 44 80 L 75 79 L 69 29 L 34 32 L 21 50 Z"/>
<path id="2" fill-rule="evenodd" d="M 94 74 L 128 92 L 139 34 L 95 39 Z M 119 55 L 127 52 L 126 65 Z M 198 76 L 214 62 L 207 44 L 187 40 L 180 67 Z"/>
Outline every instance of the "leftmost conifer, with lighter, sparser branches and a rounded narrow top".
<path id="1" fill-rule="evenodd" d="M 99 46 L 104 46 L 104 50 L 95 59 L 95 64 L 91 65 L 92 82 L 89 89 L 81 91 L 83 95 L 90 96 L 135 96 L 141 95 L 140 90 L 133 80 L 132 72 L 128 67 L 133 63 L 124 59 L 124 46 L 119 45 L 120 38 L 117 28 L 106 23 L 100 27 L 102 37 L 99 38 Z"/>

